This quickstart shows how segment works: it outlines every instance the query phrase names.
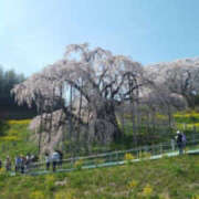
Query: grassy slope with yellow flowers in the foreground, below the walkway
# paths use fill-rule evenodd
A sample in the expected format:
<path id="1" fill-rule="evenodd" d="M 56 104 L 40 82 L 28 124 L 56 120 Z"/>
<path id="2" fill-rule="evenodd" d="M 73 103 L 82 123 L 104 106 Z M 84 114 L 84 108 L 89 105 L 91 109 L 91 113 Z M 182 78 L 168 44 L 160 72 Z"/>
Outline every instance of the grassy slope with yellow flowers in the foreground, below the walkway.
<path id="1" fill-rule="evenodd" d="M 199 157 L 164 157 L 132 165 L 45 176 L 0 172 L 1 199 L 198 199 Z"/>

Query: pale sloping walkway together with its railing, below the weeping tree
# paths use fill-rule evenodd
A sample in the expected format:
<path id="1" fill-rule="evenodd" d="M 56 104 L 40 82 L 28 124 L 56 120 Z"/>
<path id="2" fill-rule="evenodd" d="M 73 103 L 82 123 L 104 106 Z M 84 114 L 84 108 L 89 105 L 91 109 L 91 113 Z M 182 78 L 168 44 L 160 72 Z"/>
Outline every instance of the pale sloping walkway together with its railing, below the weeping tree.
<path id="1" fill-rule="evenodd" d="M 186 150 L 186 154 L 197 155 L 199 154 L 199 134 L 191 135 L 187 138 L 186 147 L 189 147 Z M 69 159 L 64 159 L 62 161 L 62 166 L 56 167 L 56 172 L 70 172 L 81 167 L 81 169 L 92 169 L 92 168 L 101 168 L 101 167 L 111 167 L 118 166 L 128 163 L 126 159 L 126 155 L 129 154 L 132 157 L 130 161 L 136 163 L 140 160 L 150 160 L 150 159 L 159 159 L 164 156 L 172 157 L 178 156 L 179 151 L 178 147 L 174 139 L 167 143 L 161 143 L 153 146 L 143 146 L 138 148 L 132 148 L 128 150 L 118 150 L 111 151 L 106 154 L 91 155 L 84 157 L 72 157 Z M 45 161 L 40 161 L 36 164 L 31 164 L 31 168 L 25 171 L 25 175 L 45 175 L 52 174 L 53 171 L 45 170 Z M 11 176 L 15 176 L 15 172 L 10 172 Z"/>

